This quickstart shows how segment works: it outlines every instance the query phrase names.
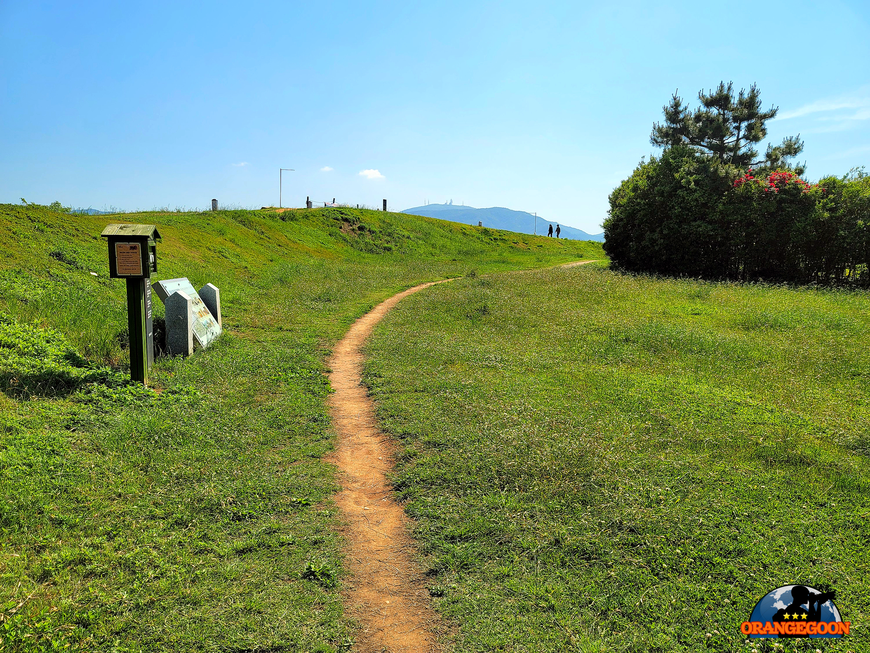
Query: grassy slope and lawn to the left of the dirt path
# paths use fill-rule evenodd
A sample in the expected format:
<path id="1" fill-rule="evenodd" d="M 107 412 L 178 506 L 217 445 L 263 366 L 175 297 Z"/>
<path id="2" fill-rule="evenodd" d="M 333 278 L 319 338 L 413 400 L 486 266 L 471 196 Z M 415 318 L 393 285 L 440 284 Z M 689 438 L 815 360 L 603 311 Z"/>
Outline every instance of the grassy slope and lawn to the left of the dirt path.
<path id="1" fill-rule="evenodd" d="M 110 221 L 157 224 L 157 279 L 221 289 L 224 335 L 158 360 L 162 392 L 119 380 L 124 283 L 108 279 L 99 238 Z M 590 255 L 597 244 L 382 212 L 0 205 L 0 641 L 335 650 L 352 627 L 320 460 L 331 344 L 407 286 Z"/>

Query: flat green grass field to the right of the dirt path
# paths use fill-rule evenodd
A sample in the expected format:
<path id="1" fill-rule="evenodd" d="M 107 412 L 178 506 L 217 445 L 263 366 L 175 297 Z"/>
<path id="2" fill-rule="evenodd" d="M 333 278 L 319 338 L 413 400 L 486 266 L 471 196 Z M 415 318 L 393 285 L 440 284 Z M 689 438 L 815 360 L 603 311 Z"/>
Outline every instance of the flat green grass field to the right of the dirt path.
<path id="1" fill-rule="evenodd" d="M 868 330 L 867 293 L 593 266 L 403 300 L 365 380 L 456 650 L 870 650 Z M 794 582 L 852 633 L 746 644 Z"/>

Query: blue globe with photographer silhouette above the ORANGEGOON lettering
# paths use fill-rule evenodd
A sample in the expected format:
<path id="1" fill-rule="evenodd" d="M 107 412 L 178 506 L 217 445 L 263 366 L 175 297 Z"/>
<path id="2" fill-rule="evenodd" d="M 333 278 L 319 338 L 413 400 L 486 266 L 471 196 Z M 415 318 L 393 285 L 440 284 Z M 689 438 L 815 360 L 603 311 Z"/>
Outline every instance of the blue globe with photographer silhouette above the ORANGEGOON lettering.
<path id="1" fill-rule="evenodd" d="M 833 604 L 833 592 L 821 592 L 808 585 L 783 585 L 768 592 L 756 603 L 750 622 L 841 622 L 840 610 Z M 827 630 L 827 628 L 826 628 Z M 776 635 L 750 635 L 752 638 Z M 834 627 L 833 633 L 800 635 L 810 638 L 838 638 L 842 635 Z"/>

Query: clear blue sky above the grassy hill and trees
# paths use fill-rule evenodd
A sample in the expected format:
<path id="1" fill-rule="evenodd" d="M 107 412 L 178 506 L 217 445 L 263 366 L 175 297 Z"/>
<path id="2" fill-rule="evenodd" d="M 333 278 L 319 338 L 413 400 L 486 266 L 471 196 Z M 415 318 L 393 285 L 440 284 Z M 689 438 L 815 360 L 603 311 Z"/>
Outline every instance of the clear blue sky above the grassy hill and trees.
<path id="1" fill-rule="evenodd" d="M 285 167 L 284 205 L 599 232 L 677 88 L 759 84 L 808 178 L 870 164 L 868 61 L 867 2 L 0 0 L 0 202 L 277 205 Z"/>

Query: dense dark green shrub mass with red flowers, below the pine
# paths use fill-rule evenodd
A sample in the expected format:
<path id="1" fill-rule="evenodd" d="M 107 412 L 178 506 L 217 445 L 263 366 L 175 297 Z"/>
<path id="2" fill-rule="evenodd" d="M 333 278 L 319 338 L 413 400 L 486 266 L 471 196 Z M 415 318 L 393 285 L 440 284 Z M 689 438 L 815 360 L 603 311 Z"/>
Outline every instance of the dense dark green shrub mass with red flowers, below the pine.
<path id="1" fill-rule="evenodd" d="M 615 267 L 708 279 L 870 283 L 870 178 L 755 177 L 689 148 L 638 165 L 610 196 Z"/>

